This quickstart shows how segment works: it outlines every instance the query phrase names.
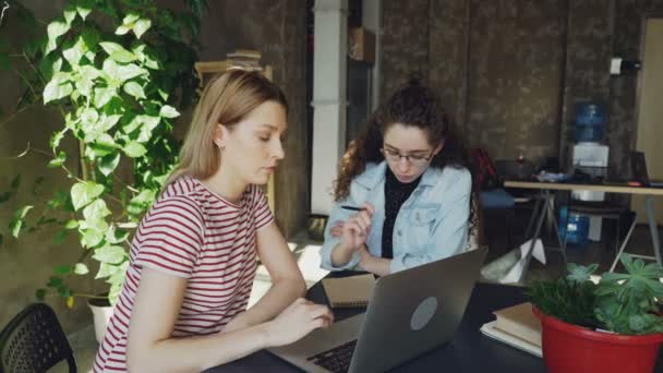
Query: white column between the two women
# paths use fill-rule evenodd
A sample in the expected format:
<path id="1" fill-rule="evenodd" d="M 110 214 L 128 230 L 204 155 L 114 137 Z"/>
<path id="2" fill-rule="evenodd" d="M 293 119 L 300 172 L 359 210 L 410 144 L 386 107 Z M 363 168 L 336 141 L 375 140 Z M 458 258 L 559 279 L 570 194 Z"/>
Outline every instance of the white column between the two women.
<path id="1" fill-rule="evenodd" d="M 346 147 L 348 0 L 316 0 L 314 12 L 311 212 L 329 214 Z"/>

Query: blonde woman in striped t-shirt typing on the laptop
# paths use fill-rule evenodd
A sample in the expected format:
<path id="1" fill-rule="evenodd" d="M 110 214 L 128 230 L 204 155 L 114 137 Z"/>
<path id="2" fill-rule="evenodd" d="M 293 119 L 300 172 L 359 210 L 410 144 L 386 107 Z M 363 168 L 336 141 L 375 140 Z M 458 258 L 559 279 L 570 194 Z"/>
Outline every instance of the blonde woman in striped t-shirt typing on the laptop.
<path id="1" fill-rule="evenodd" d="M 302 275 L 258 188 L 284 158 L 287 110 L 256 73 L 207 85 L 180 164 L 133 239 L 95 372 L 203 371 L 332 322 L 301 298 Z M 274 286 L 246 310 L 256 256 Z"/>

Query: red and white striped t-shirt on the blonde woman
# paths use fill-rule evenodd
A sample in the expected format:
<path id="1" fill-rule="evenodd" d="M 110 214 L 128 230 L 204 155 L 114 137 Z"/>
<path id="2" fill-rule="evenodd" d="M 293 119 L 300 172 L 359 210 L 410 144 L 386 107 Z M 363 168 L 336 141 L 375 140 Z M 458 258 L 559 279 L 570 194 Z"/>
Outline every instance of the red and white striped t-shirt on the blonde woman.
<path id="1" fill-rule="evenodd" d="M 255 232 L 273 220 L 256 185 L 236 205 L 196 179 L 170 183 L 135 233 L 94 371 L 126 370 L 126 334 L 143 267 L 188 279 L 173 337 L 217 333 L 245 311 L 256 269 Z"/>

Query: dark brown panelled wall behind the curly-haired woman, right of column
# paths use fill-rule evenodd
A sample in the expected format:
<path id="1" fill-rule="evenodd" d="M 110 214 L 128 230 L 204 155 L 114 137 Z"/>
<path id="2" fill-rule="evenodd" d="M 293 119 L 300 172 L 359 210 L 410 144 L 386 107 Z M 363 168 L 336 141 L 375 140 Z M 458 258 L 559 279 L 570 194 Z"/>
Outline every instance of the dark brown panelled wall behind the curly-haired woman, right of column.
<path id="1" fill-rule="evenodd" d="M 611 76 L 610 58 L 638 58 L 656 12 L 661 0 L 384 0 L 381 96 L 420 71 L 470 144 L 533 160 L 566 159 L 575 101 L 602 100 L 611 168 L 626 171 L 639 75 Z"/>

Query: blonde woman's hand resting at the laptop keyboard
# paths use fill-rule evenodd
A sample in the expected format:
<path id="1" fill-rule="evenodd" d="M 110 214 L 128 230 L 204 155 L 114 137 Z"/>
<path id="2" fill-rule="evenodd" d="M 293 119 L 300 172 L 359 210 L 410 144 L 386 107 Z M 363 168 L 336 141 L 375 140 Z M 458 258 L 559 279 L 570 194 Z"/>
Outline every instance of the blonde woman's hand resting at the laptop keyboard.
<path id="1" fill-rule="evenodd" d="M 333 322 L 334 315 L 326 305 L 299 298 L 267 323 L 267 340 L 269 346 L 289 345 Z"/>

